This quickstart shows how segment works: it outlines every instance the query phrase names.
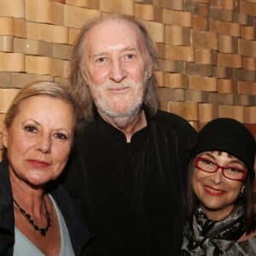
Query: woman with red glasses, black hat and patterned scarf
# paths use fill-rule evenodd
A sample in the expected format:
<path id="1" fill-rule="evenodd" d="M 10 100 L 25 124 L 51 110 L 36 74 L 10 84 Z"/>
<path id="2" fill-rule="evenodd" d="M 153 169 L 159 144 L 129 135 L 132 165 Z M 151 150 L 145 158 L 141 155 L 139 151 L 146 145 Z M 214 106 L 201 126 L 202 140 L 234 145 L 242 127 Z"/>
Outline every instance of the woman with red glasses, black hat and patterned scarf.
<path id="1" fill-rule="evenodd" d="M 254 159 L 255 139 L 235 119 L 214 119 L 199 132 L 181 255 L 256 255 Z"/>

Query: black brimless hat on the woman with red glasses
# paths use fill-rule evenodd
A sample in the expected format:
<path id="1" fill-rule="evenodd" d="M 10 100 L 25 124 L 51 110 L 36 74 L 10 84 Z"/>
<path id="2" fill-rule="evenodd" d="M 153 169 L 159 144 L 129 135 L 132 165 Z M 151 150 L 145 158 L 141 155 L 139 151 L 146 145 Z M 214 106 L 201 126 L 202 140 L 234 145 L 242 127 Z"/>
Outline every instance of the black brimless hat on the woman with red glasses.
<path id="1" fill-rule="evenodd" d="M 255 145 L 253 134 L 236 119 L 213 119 L 199 131 L 193 156 L 212 150 L 227 152 L 247 166 L 247 172 L 253 179 Z"/>

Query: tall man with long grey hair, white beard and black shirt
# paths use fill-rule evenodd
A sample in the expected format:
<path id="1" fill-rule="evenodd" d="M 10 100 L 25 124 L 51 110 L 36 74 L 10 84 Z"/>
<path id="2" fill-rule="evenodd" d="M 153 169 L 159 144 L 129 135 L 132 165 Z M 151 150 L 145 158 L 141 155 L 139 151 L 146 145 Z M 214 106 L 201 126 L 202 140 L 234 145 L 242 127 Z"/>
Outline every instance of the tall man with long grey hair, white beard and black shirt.
<path id="1" fill-rule="evenodd" d="M 178 255 L 184 174 L 195 130 L 160 111 L 157 57 L 145 28 L 113 15 L 84 26 L 71 89 L 86 125 L 63 183 L 95 239 L 90 255 Z"/>

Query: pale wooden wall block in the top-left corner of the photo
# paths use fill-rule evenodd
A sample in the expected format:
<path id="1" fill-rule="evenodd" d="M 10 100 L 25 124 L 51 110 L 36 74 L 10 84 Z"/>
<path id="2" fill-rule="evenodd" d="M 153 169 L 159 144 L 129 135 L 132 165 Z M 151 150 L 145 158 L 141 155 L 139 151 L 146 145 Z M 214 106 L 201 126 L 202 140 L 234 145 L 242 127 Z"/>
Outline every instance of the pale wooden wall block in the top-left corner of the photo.
<path id="1" fill-rule="evenodd" d="M 1 0 L 0 16 L 24 18 L 24 0 Z"/>

